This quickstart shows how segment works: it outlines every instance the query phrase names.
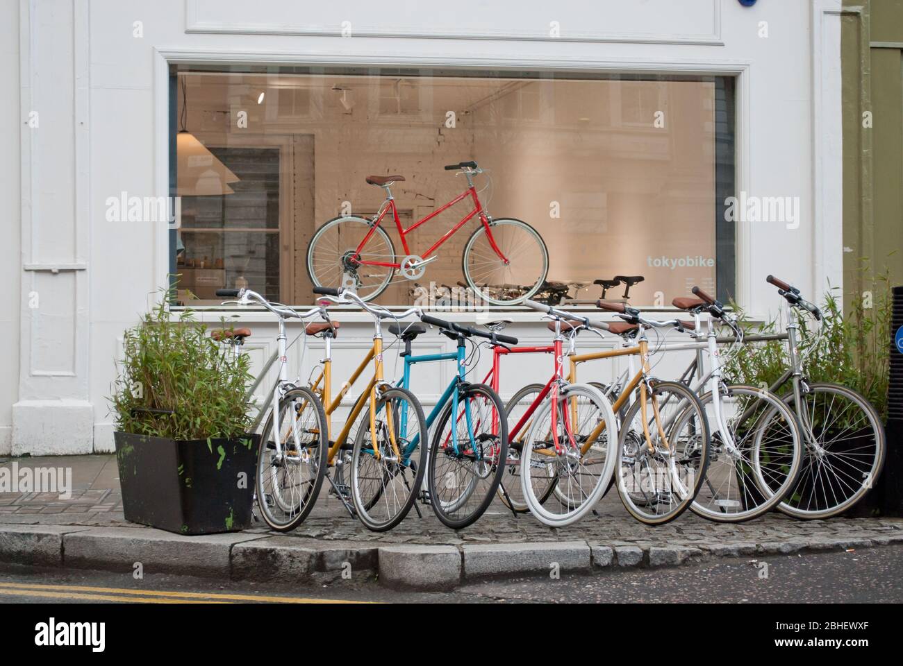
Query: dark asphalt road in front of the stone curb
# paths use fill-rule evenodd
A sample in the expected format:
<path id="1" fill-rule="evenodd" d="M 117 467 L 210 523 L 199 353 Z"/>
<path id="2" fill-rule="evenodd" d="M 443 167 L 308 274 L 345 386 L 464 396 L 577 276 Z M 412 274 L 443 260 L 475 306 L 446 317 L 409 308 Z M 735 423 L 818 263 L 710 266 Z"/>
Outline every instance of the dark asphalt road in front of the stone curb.
<path id="1" fill-rule="evenodd" d="M 767 578 L 765 568 L 767 565 Z M 903 546 L 725 559 L 675 569 L 610 569 L 560 579 L 489 580 L 450 593 L 396 592 L 372 581 L 286 587 L 172 575 L 0 571 L 0 603 L 901 603 Z"/>

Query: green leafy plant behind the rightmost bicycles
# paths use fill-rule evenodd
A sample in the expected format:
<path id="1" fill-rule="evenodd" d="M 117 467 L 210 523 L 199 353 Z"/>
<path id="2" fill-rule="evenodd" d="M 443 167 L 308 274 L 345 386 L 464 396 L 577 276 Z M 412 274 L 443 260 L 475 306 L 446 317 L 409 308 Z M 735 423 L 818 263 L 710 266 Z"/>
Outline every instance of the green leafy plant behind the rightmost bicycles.
<path id="1" fill-rule="evenodd" d="M 861 393 L 881 418 L 886 419 L 892 314 L 889 273 L 865 283 L 871 289 L 849 299 L 846 318 L 836 287 L 825 293 L 823 321 L 815 322 L 808 315 L 796 312 L 799 350 L 809 382 L 847 386 Z M 742 312 L 740 322 L 744 328 L 755 328 L 762 333 L 778 329 L 777 319 L 758 326 Z M 776 340 L 744 345 L 731 358 L 726 370 L 742 384 L 770 386 L 780 379 L 789 364 L 787 342 Z"/>

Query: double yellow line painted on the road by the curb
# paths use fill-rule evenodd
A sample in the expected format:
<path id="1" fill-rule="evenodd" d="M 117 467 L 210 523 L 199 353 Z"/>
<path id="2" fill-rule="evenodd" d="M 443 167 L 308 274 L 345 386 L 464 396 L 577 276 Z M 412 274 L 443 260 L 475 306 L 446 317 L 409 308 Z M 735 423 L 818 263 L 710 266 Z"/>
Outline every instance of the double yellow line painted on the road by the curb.
<path id="1" fill-rule="evenodd" d="M 176 592 L 142 590 L 128 587 L 91 587 L 83 585 L 41 585 L 37 583 L 0 583 L 3 597 L 42 597 L 117 601 L 130 604 L 235 604 L 242 602 L 276 604 L 355 604 L 355 601 L 314 597 L 269 597 L 266 595 L 219 594 L 214 592 Z"/>

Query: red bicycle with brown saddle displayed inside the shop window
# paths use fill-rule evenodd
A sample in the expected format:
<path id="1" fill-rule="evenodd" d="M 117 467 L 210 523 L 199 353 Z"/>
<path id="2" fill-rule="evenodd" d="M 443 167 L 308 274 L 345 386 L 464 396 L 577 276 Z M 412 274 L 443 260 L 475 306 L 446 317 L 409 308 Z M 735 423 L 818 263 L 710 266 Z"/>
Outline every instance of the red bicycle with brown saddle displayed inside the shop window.
<path id="1" fill-rule="evenodd" d="M 549 253 L 542 237 L 519 219 L 487 215 L 473 185 L 473 177 L 483 172 L 477 162 L 449 164 L 445 170 L 461 171 L 467 178 L 467 190 L 406 229 L 398 218 L 395 199 L 389 190 L 396 181 L 405 180 L 404 176 L 368 176 L 370 185 L 386 190 L 386 200 L 373 219 L 336 217 L 317 229 L 307 248 L 307 273 L 313 285 L 351 289 L 364 301 L 371 301 L 386 290 L 396 271 L 404 280 L 420 278 L 427 264 L 439 258 L 436 251 L 442 244 L 473 217 L 479 217 L 480 225 L 470 235 L 461 258 L 464 280 L 474 296 L 493 305 L 510 305 L 539 291 L 549 270 Z M 408 234 L 468 197 L 473 200 L 470 213 L 423 256 L 411 254 Z M 390 211 L 405 250 L 401 259 L 381 227 Z"/>

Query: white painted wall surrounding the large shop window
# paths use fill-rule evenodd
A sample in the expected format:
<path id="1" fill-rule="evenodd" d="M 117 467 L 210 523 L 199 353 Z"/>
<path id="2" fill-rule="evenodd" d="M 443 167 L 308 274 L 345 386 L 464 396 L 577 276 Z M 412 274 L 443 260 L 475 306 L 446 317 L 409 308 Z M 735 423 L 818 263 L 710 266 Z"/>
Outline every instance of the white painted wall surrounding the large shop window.
<path id="1" fill-rule="evenodd" d="M 522 0 L 517 11 L 512 5 L 477 2 L 460 13 L 446 3 L 413 0 L 391 6 L 360 0 L 0 5 L 0 49 L 7 56 L 0 82 L 11 91 L 0 108 L 14 121 L 0 129 L 4 145 L 13 146 L 0 156 L 0 193 L 9 202 L 4 236 L 13 241 L 0 245 L 0 275 L 8 287 L 0 298 L 14 301 L 0 302 L 0 323 L 12 331 L 0 372 L 0 453 L 10 440 L 14 452 L 112 446 L 106 396 L 113 359 L 122 330 L 163 283 L 166 235 L 161 225 L 107 222 L 104 201 L 123 190 L 167 193 L 167 59 L 736 72 L 738 190 L 798 196 L 802 204 L 798 228 L 772 223 L 738 230 L 740 300 L 762 315 L 773 310 L 777 300 L 763 280 L 767 273 L 810 293 L 821 291 L 816 275 L 840 283 L 839 229 L 820 240 L 813 218 L 814 209 L 840 209 L 839 190 L 814 186 L 815 163 L 833 169 L 839 160 L 822 146 L 840 143 L 840 125 L 836 118 L 822 122 L 817 141 L 812 129 L 824 109 L 840 114 L 839 89 L 820 88 L 819 104 L 813 101 L 813 73 L 830 69 L 815 59 L 836 57 L 825 42 L 839 39 L 839 32 L 819 32 L 818 48 L 812 39 L 814 25 L 837 20 L 823 14 L 839 0 L 817 5 L 816 14 L 805 0 L 751 9 L 736 0 Z M 133 35 L 137 21 L 140 38 Z M 768 22 L 768 38 L 759 37 L 760 21 Z M 350 38 L 340 36 L 343 22 L 350 22 Z M 552 22 L 558 22 L 558 37 L 549 35 Z M 833 104 L 831 96 L 837 97 Z M 38 130 L 23 122 L 30 109 L 41 110 Z M 20 144 L 21 159 L 14 150 Z M 822 257 L 817 273 L 814 255 Z M 53 274 L 25 271 L 25 264 L 83 264 L 85 270 Z M 27 308 L 32 291 L 42 294 L 36 310 Z M 272 325 L 255 328 L 253 342 L 263 355 L 272 347 Z M 514 328 L 516 335 L 544 337 L 535 326 Z M 359 347 L 368 336 L 367 326 L 349 325 L 340 340 Z M 517 364 L 508 386 L 547 372 L 547 366 L 534 371 Z M 424 395 L 430 391 L 424 386 Z"/>

